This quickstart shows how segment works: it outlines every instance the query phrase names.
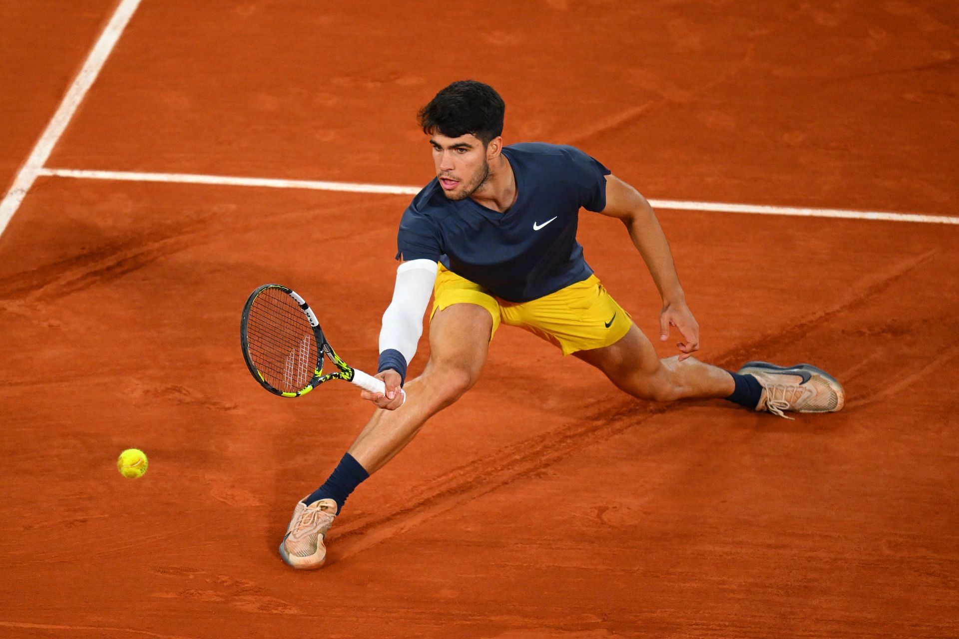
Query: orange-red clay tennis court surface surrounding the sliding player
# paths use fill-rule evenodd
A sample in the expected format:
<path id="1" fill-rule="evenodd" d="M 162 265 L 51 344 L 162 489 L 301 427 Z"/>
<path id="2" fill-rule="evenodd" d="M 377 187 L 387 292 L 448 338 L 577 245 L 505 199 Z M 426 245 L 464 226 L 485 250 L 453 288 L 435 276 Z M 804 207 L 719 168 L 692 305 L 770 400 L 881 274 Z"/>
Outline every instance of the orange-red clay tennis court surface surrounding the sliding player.
<path id="1" fill-rule="evenodd" d="M 936 0 L 3 3 L 0 635 L 959 636 L 957 24 Z M 650 198 L 699 358 L 809 361 L 847 406 L 646 403 L 503 328 L 294 571 L 292 507 L 372 406 L 262 390 L 241 309 L 290 285 L 375 369 L 433 177 L 415 113 L 465 78 L 503 95 L 505 144 Z M 622 225 L 582 212 L 579 240 L 655 338 Z"/>

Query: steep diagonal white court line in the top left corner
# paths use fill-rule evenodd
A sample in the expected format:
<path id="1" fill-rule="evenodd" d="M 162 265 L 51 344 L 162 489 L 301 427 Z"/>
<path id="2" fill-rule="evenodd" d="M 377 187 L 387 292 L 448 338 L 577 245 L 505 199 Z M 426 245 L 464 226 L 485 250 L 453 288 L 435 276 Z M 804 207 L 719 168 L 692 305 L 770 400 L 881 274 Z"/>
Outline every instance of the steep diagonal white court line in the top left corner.
<path id="1" fill-rule="evenodd" d="M 80 103 L 83 102 L 83 97 L 86 96 L 93 80 L 96 80 L 100 74 L 106 58 L 113 51 L 114 45 L 120 39 L 120 34 L 123 34 L 124 29 L 127 28 L 129 18 L 139 4 L 140 0 L 122 0 L 116 11 L 113 11 L 113 16 L 106 24 L 104 33 L 100 34 L 100 39 L 90 50 L 90 55 L 86 57 L 80 73 L 77 74 L 77 78 L 73 80 L 66 95 L 63 96 L 63 101 L 60 102 L 57 112 L 50 120 L 50 124 L 40 135 L 40 139 L 37 140 L 30 157 L 20 167 L 10 191 L 4 195 L 3 202 L 0 202 L 0 235 L 7 228 L 11 217 L 19 208 L 20 202 L 27 196 L 30 188 L 34 186 L 36 176 L 40 174 L 40 170 L 57 145 L 59 137 L 63 135 L 66 126 L 70 124 L 73 114 L 77 111 Z"/>

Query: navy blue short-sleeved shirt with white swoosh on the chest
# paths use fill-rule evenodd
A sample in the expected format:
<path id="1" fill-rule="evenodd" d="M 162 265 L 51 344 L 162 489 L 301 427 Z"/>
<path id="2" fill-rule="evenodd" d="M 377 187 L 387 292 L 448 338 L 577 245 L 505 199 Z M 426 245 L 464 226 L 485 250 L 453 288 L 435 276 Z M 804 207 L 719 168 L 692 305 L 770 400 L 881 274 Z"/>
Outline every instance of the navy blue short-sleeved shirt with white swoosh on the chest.
<path id="1" fill-rule="evenodd" d="M 503 156 L 516 176 L 505 213 L 473 199 L 447 199 L 433 178 L 400 220 L 398 260 L 433 260 L 493 295 L 528 302 L 593 274 L 576 241 L 579 208 L 606 208 L 610 173 L 573 147 L 510 145 Z"/>

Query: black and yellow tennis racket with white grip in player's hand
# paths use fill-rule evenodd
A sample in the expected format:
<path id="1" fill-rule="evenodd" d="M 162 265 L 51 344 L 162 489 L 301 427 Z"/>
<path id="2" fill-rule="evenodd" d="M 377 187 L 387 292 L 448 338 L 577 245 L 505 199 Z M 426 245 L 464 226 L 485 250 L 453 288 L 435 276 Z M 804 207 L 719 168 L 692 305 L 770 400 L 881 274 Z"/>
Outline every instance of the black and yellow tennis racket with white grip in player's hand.
<path id="1" fill-rule="evenodd" d="M 262 285 L 250 293 L 240 321 L 240 344 L 250 374 L 274 395 L 298 398 L 330 379 L 386 394 L 381 379 L 339 358 L 319 328 L 316 313 L 286 286 Z M 324 356 L 339 370 L 324 375 Z"/>

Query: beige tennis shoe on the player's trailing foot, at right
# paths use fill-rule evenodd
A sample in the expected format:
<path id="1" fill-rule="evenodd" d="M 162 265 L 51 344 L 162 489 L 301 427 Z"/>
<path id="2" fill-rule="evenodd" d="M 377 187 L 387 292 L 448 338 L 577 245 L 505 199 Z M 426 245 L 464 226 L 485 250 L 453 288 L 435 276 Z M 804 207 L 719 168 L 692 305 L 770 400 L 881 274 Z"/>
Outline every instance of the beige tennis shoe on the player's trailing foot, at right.
<path id="1" fill-rule="evenodd" d="M 748 362 L 739 375 L 756 377 L 762 386 L 756 410 L 769 411 L 787 420 L 784 411 L 797 413 L 834 413 L 846 403 L 846 391 L 835 377 L 809 364 L 775 366 L 768 362 Z"/>

